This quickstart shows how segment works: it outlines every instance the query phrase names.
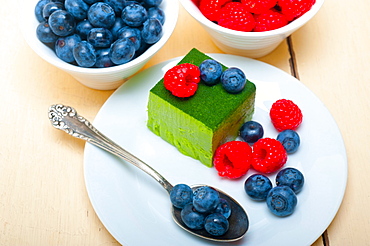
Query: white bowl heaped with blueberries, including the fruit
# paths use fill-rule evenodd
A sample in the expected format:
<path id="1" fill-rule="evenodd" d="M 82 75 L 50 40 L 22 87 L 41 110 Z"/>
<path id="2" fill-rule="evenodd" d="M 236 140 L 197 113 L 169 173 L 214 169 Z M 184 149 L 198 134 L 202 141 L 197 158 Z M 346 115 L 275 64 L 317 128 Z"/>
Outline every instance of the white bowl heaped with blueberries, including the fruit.
<path id="1" fill-rule="evenodd" d="M 170 38 L 173 0 L 24 1 L 30 47 L 83 85 L 111 90 L 138 72 Z"/>

